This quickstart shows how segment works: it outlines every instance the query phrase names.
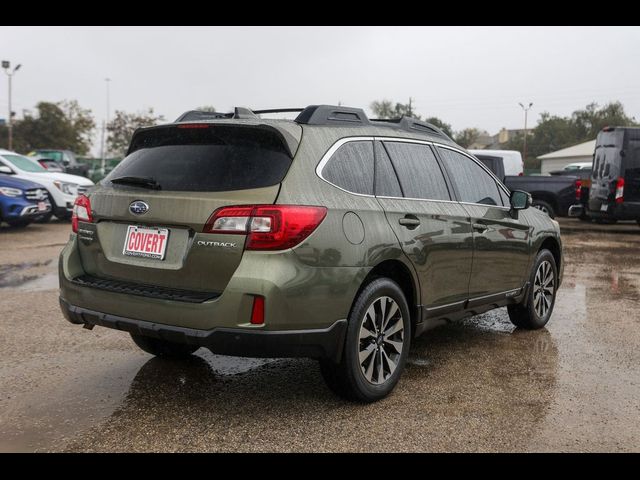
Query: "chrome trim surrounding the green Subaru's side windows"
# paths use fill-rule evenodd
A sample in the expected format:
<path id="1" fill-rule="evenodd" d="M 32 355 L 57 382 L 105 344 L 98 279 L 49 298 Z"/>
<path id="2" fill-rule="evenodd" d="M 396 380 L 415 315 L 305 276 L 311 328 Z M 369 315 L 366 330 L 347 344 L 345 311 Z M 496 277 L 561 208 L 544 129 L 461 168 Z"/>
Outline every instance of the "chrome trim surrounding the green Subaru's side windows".
<path id="1" fill-rule="evenodd" d="M 369 195 L 367 193 L 356 193 L 356 192 L 352 192 L 350 190 L 345 190 L 344 188 L 342 188 L 342 187 L 336 185 L 335 183 L 332 183 L 329 180 L 327 180 L 326 178 L 324 178 L 324 176 L 322 175 L 322 171 L 324 170 L 324 167 L 327 165 L 327 163 L 329 162 L 329 160 L 331 159 L 333 154 L 336 153 L 336 151 L 340 147 L 342 147 L 344 144 L 349 143 L 349 142 L 369 142 L 369 141 L 370 142 L 380 141 L 380 142 L 417 143 L 419 145 L 430 145 L 432 147 L 442 147 L 442 148 L 446 148 L 446 149 L 452 150 L 454 152 L 458 152 L 458 153 L 464 155 L 465 157 L 469 158 L 476 165 L 479 165 L 480 168 L 482 168 L 485 172 L 487 172 L 496 181 L 496 184 L 498 185 L 498 188 L 502 188 L 502 190 L 507 195 L 507 197 L 510 197 L 509 190 L 507 190 L 507 188 L 502 184 L 502 182 L 498 179 L 498 177 L 496 177 L 491 170 L 487 169 L 487 167 L 485 167 L 481 162 L 479 162 L 475 158 L 473 158 L 470 154 L 460 150 L 459 148 L 452 147 L 450 145 L 445 145 L 445 144 L 442 144 L 442 143 L 433 142 L 433 141 L 427 141 L 427 140 L 417 140 L 417 139 L 413 139 L 413 138 L 376 137 L 376 136 L 358 136 L 358 137 L 344 137 L 344 138 L 341 138 L 340 140 L 336 141 L 333 145 L 331 145 L 331 147 L 329 147 L 329 150 L 327 150 L 326 153 L 322 156 L 322 158 L 318 162 L 318 165 L 316 165 L 316 175 L 321 180 L 323 180 L 324 182 L 328 183 L 332 187 L 335 187 L 338 190 L 342 190 L 345 193 L 348 193 L 350 195 L 355 195 L 355 196 L 358 196 L 358 197 L 384 198 L 384 199 L 388 199 L 388 200 L 411 200 L 411 201 L 421 201 L 421 202 L 458 203 L 458 204 L 462 204 L 462 205 L 476 205 L 476 206 L 482 206 L 482 207 L 498 208 L 500 210 L 511 210 L 511 207 L 505 207 L 505 206 L 502 206 L 502 205 L 487 205 L 486 203 L 459 202 L 457 200 L 437 200 L 437 199 L 431 199 L 431 198 L 388 197 L 388 196 L 383 196 L 383 195 Z M 375 185 L 374 185 L 374 188 L 375 188 Z"/>

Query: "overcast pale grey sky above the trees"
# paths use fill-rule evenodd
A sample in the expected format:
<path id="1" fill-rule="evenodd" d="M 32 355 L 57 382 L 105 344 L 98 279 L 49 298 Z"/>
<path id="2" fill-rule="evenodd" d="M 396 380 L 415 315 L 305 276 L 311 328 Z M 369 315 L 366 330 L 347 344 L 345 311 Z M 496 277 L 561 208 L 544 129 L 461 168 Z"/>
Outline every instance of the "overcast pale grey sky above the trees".
<path id="1" fill-rule="evenodd" d="M 153 107 L 174 120 L 328 103 L 407 103 L 454 130 L 522 128 L 519 102 L 569 115 L 620 100 L 640 119 L 638 27 L 0 27 L 0 59 L 22 64 L 13 110 L 76 99 L 97 122 Z M 106 82 L 105 78 L 110 78 Z M 0 75 L 0 118 L 7 115 Z"/>

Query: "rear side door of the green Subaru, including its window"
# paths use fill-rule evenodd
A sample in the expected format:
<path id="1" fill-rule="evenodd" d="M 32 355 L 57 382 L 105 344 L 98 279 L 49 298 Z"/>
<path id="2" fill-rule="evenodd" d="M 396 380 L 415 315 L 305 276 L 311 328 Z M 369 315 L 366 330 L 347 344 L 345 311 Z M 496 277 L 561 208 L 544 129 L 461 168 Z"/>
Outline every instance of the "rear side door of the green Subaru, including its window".
<path id="1" fill-rule="evenodd" d="M 468 297 L 471 226 L 465 209 L 452 201 L 432 147 L 376 142 L 376 196 L 415 266 L 427 312 L 460 308 Z"/>

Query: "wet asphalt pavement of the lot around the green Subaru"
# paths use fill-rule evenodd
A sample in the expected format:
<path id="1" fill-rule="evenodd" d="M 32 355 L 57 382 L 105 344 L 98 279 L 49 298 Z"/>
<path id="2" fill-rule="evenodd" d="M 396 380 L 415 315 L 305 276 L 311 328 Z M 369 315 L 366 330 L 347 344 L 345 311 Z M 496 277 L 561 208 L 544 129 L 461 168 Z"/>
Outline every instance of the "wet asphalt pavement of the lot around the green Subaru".
<path id="1" fill-rule="evenodd" d="M 606 227 L 563 236 L 547 329 L 499 309 L 428 332 L 394 393 L 363 406 L 311 360 L 172 362 L 68 324 L 69 224 L 3 226 L 0 451 L 639 451 L 640 228 Z"/>

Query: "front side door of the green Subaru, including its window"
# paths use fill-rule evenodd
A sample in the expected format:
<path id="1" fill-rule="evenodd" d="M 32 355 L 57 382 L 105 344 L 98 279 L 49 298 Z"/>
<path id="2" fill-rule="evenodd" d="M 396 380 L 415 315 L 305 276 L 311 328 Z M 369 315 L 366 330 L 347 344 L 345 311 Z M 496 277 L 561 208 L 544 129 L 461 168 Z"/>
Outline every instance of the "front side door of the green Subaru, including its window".
<path id="1" fill-rule="evenodd" d="M 528 273 L 529 225 L 511 215 L 505 190 L 478 162 L 444 146 L 438 152 L 473 228 L 470 299 L 483 303 L 521 288 Z"/>

